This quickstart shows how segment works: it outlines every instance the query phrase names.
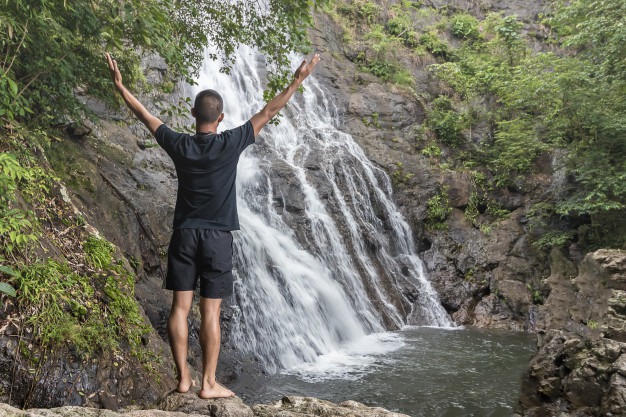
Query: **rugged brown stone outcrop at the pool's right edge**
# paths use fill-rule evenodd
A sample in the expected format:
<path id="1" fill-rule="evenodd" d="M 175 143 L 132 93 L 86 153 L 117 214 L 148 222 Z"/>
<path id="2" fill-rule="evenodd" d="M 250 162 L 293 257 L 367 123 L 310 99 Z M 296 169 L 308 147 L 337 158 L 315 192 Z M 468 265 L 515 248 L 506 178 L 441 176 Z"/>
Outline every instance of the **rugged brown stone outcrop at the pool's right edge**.
<path id="1" fill-rule="evenodd" d="M 551 253 L 551 288 L 538 316 L 538 350 L 524 375 L 520 414 L 626 414 L 626 251 L 574 264 Z"/>

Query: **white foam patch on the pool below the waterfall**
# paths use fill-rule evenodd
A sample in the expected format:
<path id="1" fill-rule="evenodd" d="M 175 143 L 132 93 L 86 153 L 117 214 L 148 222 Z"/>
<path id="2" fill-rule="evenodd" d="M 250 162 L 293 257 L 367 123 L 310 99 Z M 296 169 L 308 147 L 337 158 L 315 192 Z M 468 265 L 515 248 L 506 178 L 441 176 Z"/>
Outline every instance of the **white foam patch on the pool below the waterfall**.
<path id="1" fill-rule="evenodd" d="M 311 383 L 330 379 L 355 381 L 381 366 L 391 365 L 394 360 L 389 354 L 405 345 L 399 333 L 369 334 L 282 373 Z"/>

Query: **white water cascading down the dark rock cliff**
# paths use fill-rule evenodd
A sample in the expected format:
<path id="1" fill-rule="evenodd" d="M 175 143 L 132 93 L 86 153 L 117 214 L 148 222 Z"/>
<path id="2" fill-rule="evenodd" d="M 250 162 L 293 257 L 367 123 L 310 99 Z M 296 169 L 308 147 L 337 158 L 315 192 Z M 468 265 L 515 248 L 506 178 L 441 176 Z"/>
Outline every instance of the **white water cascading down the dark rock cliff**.
<path id="1" fill-rule="evenodd" d="M 220 92 L 220 128 L 235 127 L 264 105 L 262 67 L 245 47 L 229 75 L 207 58 L 189 94 Z M 399 328 L 408 316 L 453 325 L 391 200 L 389 177 L 337 129 L 337 110 L 314 76 L 305 87 L 244 152 L 237 173 L 232 337 L 269 371 Z"/>

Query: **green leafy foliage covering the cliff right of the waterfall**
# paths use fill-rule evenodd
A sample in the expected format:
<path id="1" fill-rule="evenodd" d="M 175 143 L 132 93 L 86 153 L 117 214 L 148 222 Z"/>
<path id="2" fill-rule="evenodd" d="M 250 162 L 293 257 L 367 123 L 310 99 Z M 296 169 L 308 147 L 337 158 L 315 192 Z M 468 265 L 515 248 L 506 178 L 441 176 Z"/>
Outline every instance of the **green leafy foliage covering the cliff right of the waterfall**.
<path id="1" fill-rule="evenodd" d="M 365 19 L 357 12 L 365 2 L 337 4 L 363 70 L 391 81 L 408 61 L 441 81 L 438 97 L 416 93 L 435 137 L 422 141 L 423 155 L 446 169 L 484 167 L 493 186 L 521 191 L 529 173 L 545 170 L 538 161 L 558 155 L 552 161 L 565 188 L 547 198 L 542 230 L 571 233 L 588 247 L 626 245 L 626 25 L 613 18 L 626 14 L 625 2 L 556 0 L 541 24 L 500 13 L 479 21 L 409 1 Z M 442 154 L 440 145 L 456 149 Z M 485 228 L 479 215 L 506 214 L 485 193 L 470 196 L 466 208 Z M 567 222 L 584 227 L 565 230 Z"/>

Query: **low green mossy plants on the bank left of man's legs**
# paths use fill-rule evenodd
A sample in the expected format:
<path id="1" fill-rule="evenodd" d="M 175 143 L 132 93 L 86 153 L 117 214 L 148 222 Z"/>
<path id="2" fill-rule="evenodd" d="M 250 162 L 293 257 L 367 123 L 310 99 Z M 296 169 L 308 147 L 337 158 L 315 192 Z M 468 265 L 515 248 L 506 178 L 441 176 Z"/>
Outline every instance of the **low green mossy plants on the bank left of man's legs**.
<path id="1" fill-rule="evenodd" d="M 89 242 L 86 257 L 95 271 L 77 273 L 67 262 L 53 259 L 19 271 L 17 302 L 34 342 L 43 349 L 68 344 L 87 355 L 126 345 L 133 355 L 148 357 L 141 340 L 150 328 L 134 298 L 134 276 L 112 261 L 110 243 L 99 238 Z"/>

